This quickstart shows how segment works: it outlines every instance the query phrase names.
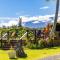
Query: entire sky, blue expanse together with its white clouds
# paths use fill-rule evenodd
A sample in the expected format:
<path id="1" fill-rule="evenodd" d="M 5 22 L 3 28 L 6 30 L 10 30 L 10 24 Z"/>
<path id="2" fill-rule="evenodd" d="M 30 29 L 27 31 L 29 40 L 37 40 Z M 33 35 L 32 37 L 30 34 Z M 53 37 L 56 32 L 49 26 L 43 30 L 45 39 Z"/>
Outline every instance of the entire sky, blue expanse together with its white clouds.
<path id="1" fill-rule="evenodd" d="M 0 0 L 0 26 L 17 24 L 19 17 L 23 22 L 47 20 L 54 16 L 55 7 L 55 0 Z"/>

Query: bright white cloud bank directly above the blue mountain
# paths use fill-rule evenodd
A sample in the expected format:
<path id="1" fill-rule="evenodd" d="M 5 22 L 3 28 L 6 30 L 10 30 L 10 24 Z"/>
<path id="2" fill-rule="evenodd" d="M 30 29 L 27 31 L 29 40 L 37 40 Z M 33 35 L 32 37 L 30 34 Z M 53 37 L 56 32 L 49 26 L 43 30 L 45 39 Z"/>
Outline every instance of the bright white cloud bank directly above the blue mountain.
<path id="1" fill-rule="evenodd" d="M 48 21 L 50 17 L 54 17 L 54 14 L 44 15 L 44 16 L 32 16 L 32 17 L 20 16 L 20 17 L 22 18 L 22 22 L 28 22 L 28 21 L 33 21 L 33 20 Z"/>

